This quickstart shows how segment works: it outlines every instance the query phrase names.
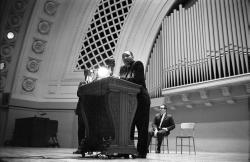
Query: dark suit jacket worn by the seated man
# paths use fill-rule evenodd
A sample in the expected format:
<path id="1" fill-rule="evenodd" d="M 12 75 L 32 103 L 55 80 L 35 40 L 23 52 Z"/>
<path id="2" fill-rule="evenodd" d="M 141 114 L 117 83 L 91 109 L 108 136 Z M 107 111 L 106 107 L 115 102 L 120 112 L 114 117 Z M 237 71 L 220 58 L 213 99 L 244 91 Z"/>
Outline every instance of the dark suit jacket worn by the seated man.
<path id="1" fill-rule="evenodd" d="M 153 129 L 157 129 L 157 130 L 161 130 L 162 128 L 168 128 L 168 131 L 167 131 L 167 135 L 168 135 L 170 131 L 175 128 L 174 119 L 171 115 L 166 114 L 160 127 L 161 117 L 162 116 L 160 113 L 155 115 L 154 122 L 152 123 L 152 127 Z"/>

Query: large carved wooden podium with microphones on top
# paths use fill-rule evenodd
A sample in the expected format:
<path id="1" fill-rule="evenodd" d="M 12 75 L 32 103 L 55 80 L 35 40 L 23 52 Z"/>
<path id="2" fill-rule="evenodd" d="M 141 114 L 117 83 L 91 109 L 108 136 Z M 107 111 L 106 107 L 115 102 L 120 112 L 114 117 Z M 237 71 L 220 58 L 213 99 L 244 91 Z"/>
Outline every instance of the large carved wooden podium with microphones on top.
<path id="1" fill-rule="evenodd" d="M 112 77 L 79 87 L 80 115 L 86 131 L 81 143 L 83 156 L 94 151 L 106 155 L 137 152 L 130 130 L 140 87 Z"/>

